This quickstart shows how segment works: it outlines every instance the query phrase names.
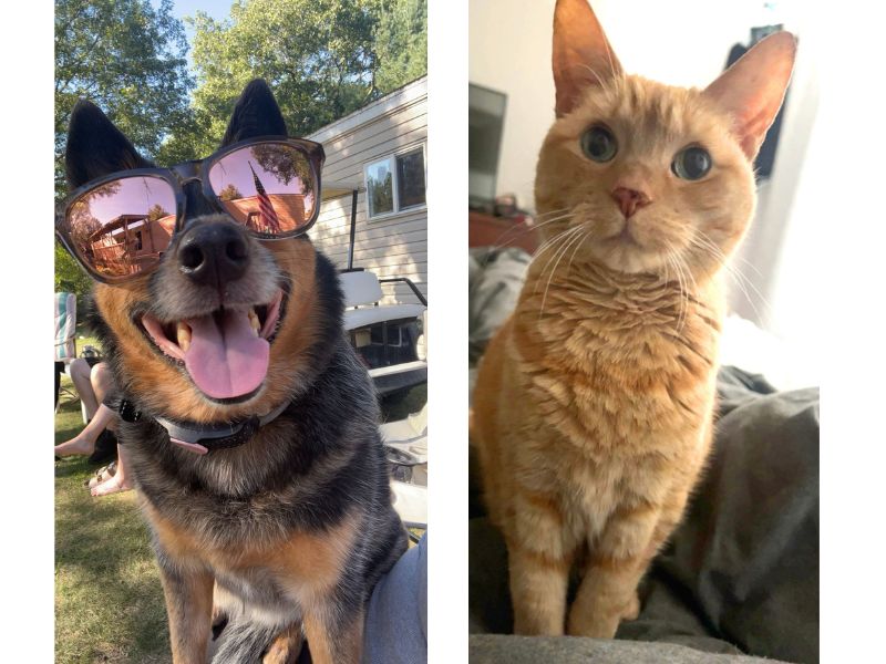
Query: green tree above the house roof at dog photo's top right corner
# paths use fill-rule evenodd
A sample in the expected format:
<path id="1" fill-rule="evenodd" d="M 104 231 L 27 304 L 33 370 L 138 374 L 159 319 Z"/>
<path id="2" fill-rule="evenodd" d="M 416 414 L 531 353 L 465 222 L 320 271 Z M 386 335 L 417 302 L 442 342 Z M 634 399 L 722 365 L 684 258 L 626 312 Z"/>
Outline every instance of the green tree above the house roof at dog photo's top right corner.
<path id="1" fill-rule="evenodd" d="M 383 0 L 375 30 L 382 93 L 427 73 L 427 0 Z"/>

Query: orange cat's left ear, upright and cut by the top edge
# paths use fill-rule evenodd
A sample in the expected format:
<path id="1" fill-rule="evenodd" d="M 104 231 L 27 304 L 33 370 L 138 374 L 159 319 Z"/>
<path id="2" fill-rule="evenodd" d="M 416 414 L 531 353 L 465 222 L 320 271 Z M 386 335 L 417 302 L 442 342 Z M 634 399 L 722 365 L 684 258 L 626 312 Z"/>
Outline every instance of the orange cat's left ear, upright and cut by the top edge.
<path id="1" fill-rule="evenodd" d="M 589 85 L 621 75 L 621 64 L 587 0 L 557 0 L 553 55 L 557 117 L 569 113 Z"/>

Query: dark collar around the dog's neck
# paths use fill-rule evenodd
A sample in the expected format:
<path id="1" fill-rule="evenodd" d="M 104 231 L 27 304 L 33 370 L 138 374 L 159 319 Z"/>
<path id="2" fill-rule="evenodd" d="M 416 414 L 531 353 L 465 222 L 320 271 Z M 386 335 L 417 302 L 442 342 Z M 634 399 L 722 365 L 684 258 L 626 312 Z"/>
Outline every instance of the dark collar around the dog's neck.
<path id="1" fill-rule="evenodd" d="M 238 447 L 246 443 L 259 427 L 276 419 L 282 413 L 289 402 L 284 402 L 267 415 L 259 417 L 253 415 L 246 419 L 240 419 L 231 424 L 195 424 L 181 423 L 166 419 L 165 417 L 154 417 L 154 421 L 166 429 L 169 442 L 195 454 L 208 454 L 216 449 L 228 449 Z M 142 413 L 136 411 L 132 402 L 121 400 L 120 416 L 125 422 L 138 422 Z"/>

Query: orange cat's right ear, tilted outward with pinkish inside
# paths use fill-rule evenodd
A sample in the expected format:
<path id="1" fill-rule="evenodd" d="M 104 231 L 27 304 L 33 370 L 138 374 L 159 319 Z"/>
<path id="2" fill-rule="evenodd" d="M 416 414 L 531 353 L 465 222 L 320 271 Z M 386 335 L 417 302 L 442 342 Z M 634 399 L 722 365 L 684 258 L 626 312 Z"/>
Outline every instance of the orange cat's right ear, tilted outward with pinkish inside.
<path id="1" fill-rule="evenodd" d="M 793 34 L 770 34 L 754 44 L 702 93 L 732 115 L 732 129 L 751 160 L 756 156 L 782 106 L 795 54 L 796 39 Z"/>

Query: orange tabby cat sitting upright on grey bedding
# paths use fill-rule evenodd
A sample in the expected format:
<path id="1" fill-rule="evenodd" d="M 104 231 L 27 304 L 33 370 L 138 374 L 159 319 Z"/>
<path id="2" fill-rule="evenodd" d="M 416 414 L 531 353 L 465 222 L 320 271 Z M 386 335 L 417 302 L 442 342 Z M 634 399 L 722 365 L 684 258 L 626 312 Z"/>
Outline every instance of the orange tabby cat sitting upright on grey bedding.
<path id="1" fill-rule="evenodd" d="M 586 0 L 557 2 L 547 243 L 481 364 L 472 427 L 516 633 L 611 637 L 637 615 L 711 446 L 722 263 L 794 51 L 781 32 L 705 90 L 670 87 L 622 73 Z"/>

